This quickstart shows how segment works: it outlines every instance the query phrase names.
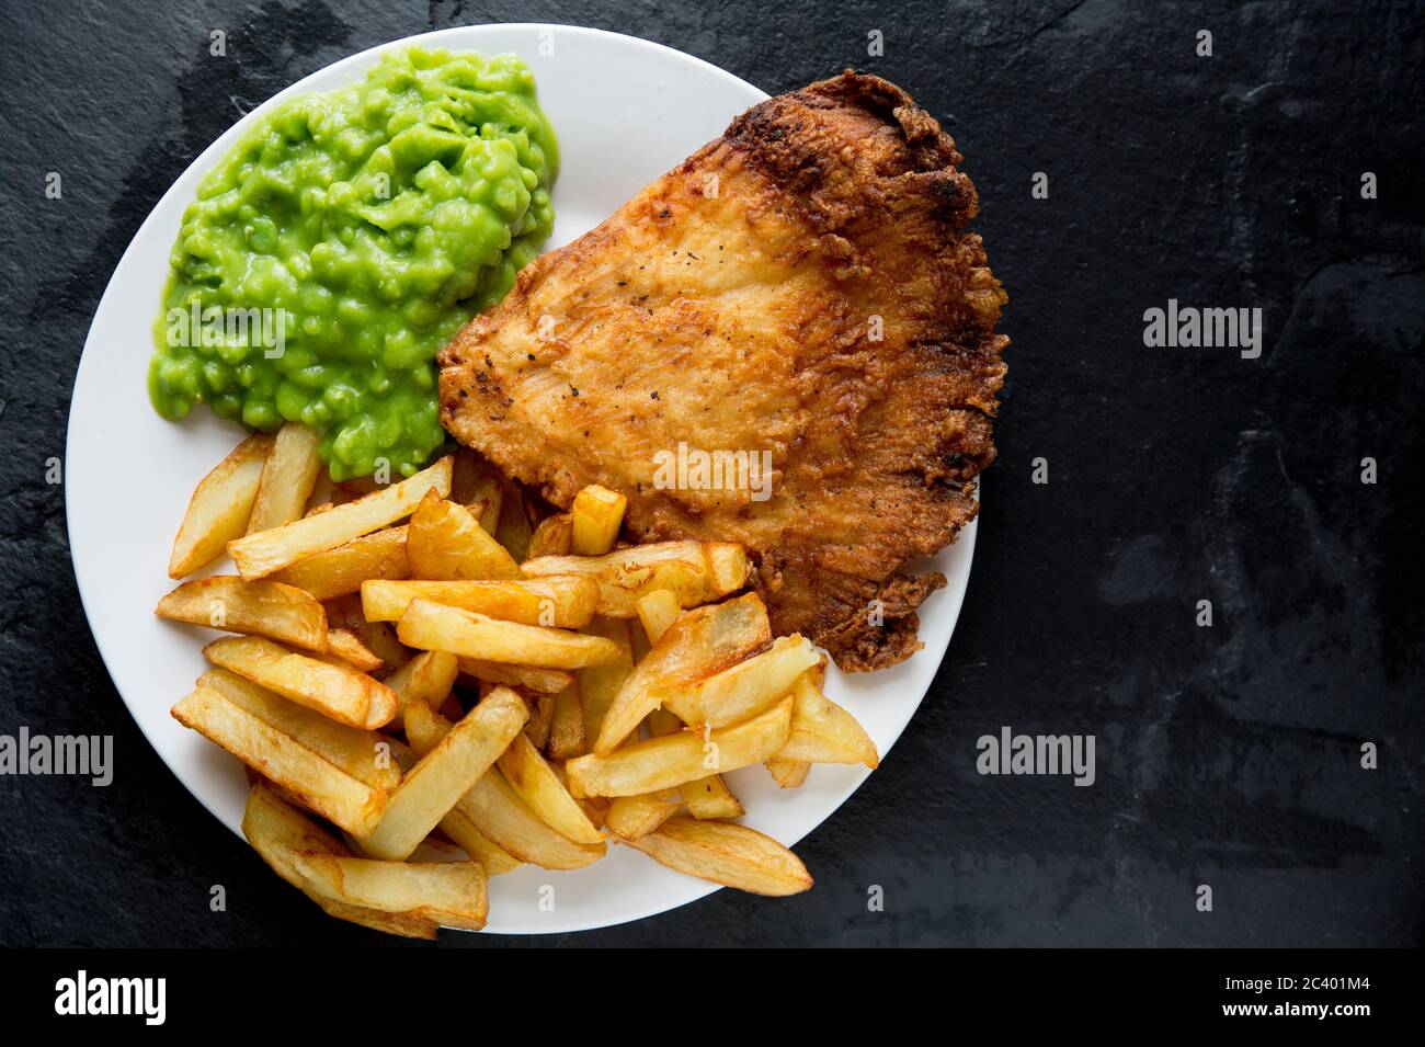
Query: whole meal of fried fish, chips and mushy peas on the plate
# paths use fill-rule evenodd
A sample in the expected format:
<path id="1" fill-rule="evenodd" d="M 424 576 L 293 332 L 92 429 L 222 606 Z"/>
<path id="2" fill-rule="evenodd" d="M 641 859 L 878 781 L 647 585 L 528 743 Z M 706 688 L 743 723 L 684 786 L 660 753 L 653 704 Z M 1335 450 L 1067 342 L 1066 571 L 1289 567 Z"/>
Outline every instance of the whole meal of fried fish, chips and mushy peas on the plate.
<path id="1" fill-rule="evenodd" d="M 557 145 L 517 58 L 412 48 L 248 131 L 150 389 L 256 432 L 157 613 L 227 634 L 172 715 L 247 765 L 279 876 L 418 937 L 610 846 L 811 887 L 722 775 L 876 766 L 829 660 L 909 657 L 943 578 L 903 566 L 973 517 L 1005 295 L 959 161 L 846 73 L 536 258 Z"/>

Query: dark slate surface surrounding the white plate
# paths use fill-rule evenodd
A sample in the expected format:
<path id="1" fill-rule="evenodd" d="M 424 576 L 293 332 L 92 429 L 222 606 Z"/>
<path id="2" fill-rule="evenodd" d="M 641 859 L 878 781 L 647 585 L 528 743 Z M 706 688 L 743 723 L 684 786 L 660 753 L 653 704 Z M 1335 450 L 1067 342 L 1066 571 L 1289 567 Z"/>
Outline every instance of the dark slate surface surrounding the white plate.
<path id="1" fill-rule="evenodd" d="M 979 185 L 1010 386 L 950 652 L 881 771 L 799 846 L 811 895 L 443 944 L 1419 944 L 1418 3 L 162 7 L 0 9 L 0 734 L 108 732 L 117 764 L 108 789 L 0 779 L 0 940 L 380 940 L 279 883 L 140 736 L 44 463 L 108 275 L 209 141 L 372 44 L 543 20 L 665 43 L 771 93 L 848 64 L 903 84 Z M 207 54 L 212 28 L 227 58 Z M 1036 171 L 1049 199 L 1030 198 Z M 1168 298 L 1260 306 L 1261 359 L 1146 349 L 1143 311 Z M 124 460 L 120 440 L 115 467 L 162 463 Z M 1000 725 L 1096 734 L 1097 783 L 980 778 L 975 739 Z M 214 883 L 227 913 L 208 910 Z M 884 913 L 866 912 L 871 883 Z"/>

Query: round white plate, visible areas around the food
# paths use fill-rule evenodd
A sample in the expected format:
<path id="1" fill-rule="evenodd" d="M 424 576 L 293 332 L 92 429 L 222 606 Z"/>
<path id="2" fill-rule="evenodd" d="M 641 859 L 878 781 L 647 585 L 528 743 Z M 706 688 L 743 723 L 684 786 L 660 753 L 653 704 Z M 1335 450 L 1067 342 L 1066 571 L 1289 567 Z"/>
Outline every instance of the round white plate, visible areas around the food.
<path id="1" fill-rule="evenodd" d="M 542 48 L 544 41 L 553 44 L 553 54 L 547 43 Z M 128 711 L 178 781 L 234 832 L 239 832 L 247 793 L 241 766 L 168 715 L 204 670 L 198 648 L 211 634 L 160 621 L 152 608 L 170 588 L 172 534 L 194 484 L 231 450 L 239 429 L 204 407 L 180 424 L 154 413 L 144 387 L 151 325 L 182 209 L 234 140 L 279 98 L 359 80 L 380 51 L 410 43 L 513 51 L 529 61 L 563 151 L 550 248 L 597 225 L 767 97 L 705 61 L 633 37 L 567 26 L 447 28 L 363 51 L 294 84 L 208 147 L 148 215 L 104 292 L 74 383 L 66 484 L 70 547 L 84 613 Z M 940 664 L 973 548 L 970 524 L 929 564 L 945 573 L 949 585 L 931 597 L 921 615 L 923 651 L 892 670 L 855 677 L 832 671 L 828 679 L 831 697 L 865 724 L 882 756 Z M 754 766 L 730 775 L 730 783 L 747 806 L 747 823 L 791 845 L 841 806 L 866 773 L 864 768 L 817 766 L 801 789 L 782 791 Z M 546 885 L 554 889 L 551 909 L 547 902 L 542 906 Z M 604 860 L 579 872 L 526 868 L 496 877 L 489 930 L 537 934 L 606 927 L 715 889 L 616 846 Z"/>

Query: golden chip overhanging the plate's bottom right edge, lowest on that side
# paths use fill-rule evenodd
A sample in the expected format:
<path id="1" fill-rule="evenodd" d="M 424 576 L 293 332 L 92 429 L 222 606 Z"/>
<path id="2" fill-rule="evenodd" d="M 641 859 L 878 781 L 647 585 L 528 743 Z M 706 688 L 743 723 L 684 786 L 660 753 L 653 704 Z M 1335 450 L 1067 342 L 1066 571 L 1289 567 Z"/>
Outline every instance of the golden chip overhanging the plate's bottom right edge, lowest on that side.
<path id="1" fill-rule="evenodd" d="M 812 885 L 797 855 L 745 825 L 670 818 L 627 843 L 670 869 L 752 895 L 799 895 Z"/>

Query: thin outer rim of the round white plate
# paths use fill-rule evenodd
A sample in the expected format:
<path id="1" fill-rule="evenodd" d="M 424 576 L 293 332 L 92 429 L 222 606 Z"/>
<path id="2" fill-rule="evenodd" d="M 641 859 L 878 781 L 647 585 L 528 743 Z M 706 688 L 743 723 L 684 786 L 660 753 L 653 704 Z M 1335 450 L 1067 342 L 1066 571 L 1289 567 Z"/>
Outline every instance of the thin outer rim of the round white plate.
<path id="1" fill-rule="evenodd" d="M 343 56 L 343 57 L 341 57 L 341 58 L 338 58 L 338 60 L 335 60 L 332 63 L 328 63 L 326 66 L 322 66 L 322 67 L 319 67 L 316 70 L 312 70 L 306 75 L 301 77 L 299 80 L 295 80 L 294 83 L 288 84 L 282 90 L 276 91 L 269 98 L 266 98 L 262 103 L 254 105 L 241 118 L 238 118 L 237 121 L 234 121 L 232 124 L 229 124 L 217 138 L 214 138 L 211 142 L 208 142 L 208 145 L 204 147 L 202 151 L 200 151 L 182 168 L 182 171 L 174 178 L 172 184 L 168 185 L 168 188 L 162 192 L 162 195 L 148 209 L 148 214 L 144 217 L 144 221 L 140 222 L 138 228 L 134 231 L 133 236 L 128 239 L 128 244 L 124 246 L 124 251 L 123 251 L 123 254 L 118 258 L 118 262 L 114 265 L 114 269 L 110 272 L 110 275 L 108 275 L 108 278 L 105 281 L 104 292 L 100 295 L 98 303 L 94 308 L 94 313 L 90 318 L 90 326 L 88 326 L 88 332 L 87 332 L 87 335 L 84 338 L 84 346 L 83 346 L 83 349 L 80 352 L 80 359 L 78 359 L 78 363 L 76 365 L 76 369 L 74 369 L 74 377 L 73 377 L 73 382 L 71 382 L 71 386 L 70 386 L 70 396 L 68 396 L 68 417 L 66 420 L 66 440 L 64 440 L 64 460 L 66 460 L 66 463 L 70 462 L 70 459 L 73 457 L 73 452 L 74 452 L 77 443 L 83 439 L 83 436 L 78 434 L 78 430 L 83 429 L 83 424 L 76 422 L 74 399 L 76 399 L 76 393 L 78 392 L 78 387 L 80 387 L 81 376 L 83 376 L 83 373 L 86 370 L 86 360 L 90 356 L 91 343 L 94 343 L 95 339 L 98 338 L 98 333 L 95 330 L 97 321 L 104 313 L 105 303 L 108 302 L 110 295 L 114 292 L 114 283 L 115 283 L 114 278 L 118 275 L 118 271 L 124 266 L 124 262 L 128 258 L 128 254 L 134 249 L 134 245 L 144 236 L 144 234 L 148 231 L 148 226 L 151 224 L 154 224 L 154 222 L 158 221 L 160 212 L 164 212 L 165 208 L 167 208 L 167 205 L 170 205 L 170 198 L 174 197 L 178 192 L 178 185 L 180 185 L 180 182 L 182 182 L 184 175 L 187 175 L 195 167 L 204 167 L 204 165 L 211 167 L 211 161 L 215 158 L 214 154 L 218 154 L 222 150 L 228 148 L 228 145 L 242 132 L 242 130 L 251 127 L 272 105 L 278 104 L 279 101 L 282 101 L 282 100 L 285 100 L 288 97 L 301 94 L 305 90 L 315 90 L 315 88 L 305 88 L 305 85 L 311 80 L 314 80 L 316 77 L 332 74 L 333 71 L 339 73 L 343 67 L 361 66 L 363 63 L 363 60 L 373 60 L 376 56 L 379 56 L 379 54 L 382 54 L 385 51 L 399 50 L 399 48 L 412 47 L 412 46 L 422 46 L 422 44 L 425 44 L 425 46 L 443 46 L 443 44 L 439 44 L 437 41 L 440 41 L 442 38 L 447 38 L 452 34 L 467 33 L 470 30 L 479 30 L 479 28 L 500 28 L 500 30 L 512 30 L 512 31 L 516 31 L 516 30 L 530 30 L 530 31 L 537 31 L 537 30 L 559 30 L 560 33 L 573 33 L 573 34 L 584 36 L 584 37 L 613 37 L 613 38 L 617 38 L 617 40 L 624 41 L 624 43 L 631 41 L 637 47 L 651 48 L 654 51 L 663 51 L 663 53 L 667 53 L 667 54 L 673 56 L 674 58 L 677 58 L 680 61 L 691 63 L 695 67 L 700 67 L 705 73 L 710 73 L 712 75 L 717 75 L 717 77 L 721 77 L 721 78 L 724 78 L 727 81 L 731 81 L 731 83 L 737 84 L 738 87 L 747 88 L 752 94 L 760 95 L 760 98 L 770 97 L 765 91 L 762 91 L 761 88 L 758 88 L 755 84 L 751 84 L 750 81 L 742 80 L 737 74 L 730 73 L 728 70 L 724 70 L 720 66 L 715 66 L 714 63 L 711 63 L 711 61 L 708 61 L 705 58 L 701 58 L 701 57 L 698 57 L 695 54 L 688 54 L 687 51 L 681 51 L 681 50 L 678 50 L 675 47 L 670 47 L 668 44 L 661 44 L 661 43 L 654 41 L 654 40 L 646 40 L 643 37 L 636 37 L 636 36 L 630 36 L 630 34 L 626 34 L 626 33 L 614 33 L 614 31 L 610 31 L 610 30 L 594 28 L 594 27 L 589 27 L 589 26 L 576 26 L 576 24 L 569 24 L 569 23 L 513 21 L 513 23 L 475 23 L 475 24 L 466 24 L 466 26 L 449 26 L 449 27 L 445 27 L 445 28 L 430 30 L 430 31 L 426 31 L 426 33 L 418 33 L 418 34 L 413 34 L 413 36 L 409 36 L 409 37 L 402 37 L 402 38 L 398 38 L 398 40 L 390 40 L 390 41 L 386 41 L 386 43 L 375 44 L 372 47 L 363 48 L 361 51 L 355 51 L 352 54 Z M 98 352 L 98 348 L 95 348 L 95 352 Z M 975 499 L 976 499 L 976 503 L 979 501 L 979 491 L 980 491 L 980 480 L 976 479 L 976 484 L 975 484 Z M 148 744 L 150 749 L 152 749 L 154 755 L 158 758 L 158 762 L 164 765 L 164 769 L 172 776 L 172 779 L 177 782 L 177 785 L 181 786 L 184 789 L 184 792 L 187 792 L 192 799 L 195 799 L 214 819 L 217 819 L 217 822 L 221 826 L 228 828 L 229 830 L 234 830 L 232 826 L 228 825 L 228 821 L 227 821 L 225 815 L 215 808 L 214 802 L 211 802 L 209 798 L 205 796 L 205 795 L 202 795 L 201 792 L 190 788 L 190 785 L 178 775 L 178 771 L 174 768 L 174 765 L 170 762 L 170 759 L 165 758 L 164 751 L 160 748 L 158 742 L 155 741 L 155 738 L 151 734 L 150 728 L 145 725 L 144 719 L 137 715 L 134 702 L 130 701 L 128 695 L 120 687 L 118 679 L 114 677 L 113 670 L 110 670 L 110 661 L 111 660 L 110 660 L 108 651 L 105 650 L 107 644 L 105 644 L 104 640 L 101 640 L 100 631 L 94 627 L 94 614 L 90 610 L 91 605 L 97 604 L 97 597 L 91 598 L 91 595 L 90 595 L 91 585 L 98 585 L 100 583 L 97 580 L 94 580 L 93 577 L 90 578 L 90 581 L 86 581 L 86 574 L 84 574 L 84 571 L 80 567 L 80 558 L 77 556 L 76 546 L 73 543 L 73 536 L 76 534 L 74 513 L 76 513 L 74 500 L 70 497 L 70 487 L 68 487 L 68 483 L 66 483 L 64 484 L 64 520 L 66 520 L 67 544 L 70 547 L 70 557 L 68 557 L 68 560 L 70 560 L 70 568 L 71 568 L 71 571 L 74 574 L 76 588 L 77 588 L 78 595 L 80 595 L 80 605 L 81 605 L 81 608 L 84 611 L 86 625 L 88 627 L 90 637 L 93 638 L 94 647 L 95 647 L 95 650 L 100 654 L 100 661 L 104 664 L 104 672 L 105 672 L 105 675 L 108 675 L 110 684 L 113 685 L 114 691 L 118 694 L 120 701 L 124 704 L 124 709 L 128 714 L 130 719 L 133 721 L 134 726 L 138 728 L 140 735 L 142 735 L 142 738 Z M 929 691 L 931 691 L 931 688 L 932 688 L 932 685 L 935 682 L 935 677 L 938 675 L 939 668 L 943 664 L 945 654 L 949 650 L 950 640 L 953 638 L 955 630 L 956 630 L 956 627 L 959 624 L 959 615 L 960 615 L 960 611 L 963 610 L 965 594 L 969 590 L 969 580 L 970 580 L 970 574 L 973 573 L 975 544 L 976 544 L 978 531 L 979 531 L 979 513 L 976 511 L 975 519 L 972 519 L 965 527 L 960 528 L 959 534 L 950 543 L 950 546 L 946 546 L 945 550 L 942 550 L 942 553 L 945 553 L 945 551 L 948 551 L 950 548 L 959 548 L 959 550 L 962 550 L 962 556 L 965 557 L 963 583 L 960 585 L 958 585 L 958 587 L 953 587 L 953 588 L 952 587 L 946 587 L 945 593 L 938 594 L 939 600 L 948 600 L 949 601 L 949 607 L 946 607 L 943 610 L 943 614 L 946 615 L 949 625 L 942 632 L 939 632 L 939 634 L 936 634 L 933 637 L 926 637 L 925 634 L 921 635 L 921 640 L 925 644 L 925 647 L 921 651 L 918 651 L 916 655 L 912 655 L 912 657 L 919 657 L 919 658 L 923 658 L 926 661 L 933 660 L 935 661 L 935 668 L 931 670 L 931 674 L 929 674 L 929 678 L 926 679 L 925 688 L 916 697 L 913 707 L 909 709 L 908 715 L 905 717 L 905 721 L 899 726 L 896 726 L 893 729 L 893 732 L 891 734 L 889 741 L 885 744 L 882 752 L 879 754 L 882 761 L 889 755 L 891 749 L 895 746 L 895 744 L 899 741 L 901 735 L 909 726 L 911 721 L 915 718 L 916 712 L 919 712 L 919 708 L 921 708 L 922 702 L 925 701 L 925 697 L 929 694 Z M 809 836 L 812 832 L 815 832 L 817 829 L 819 829 L 826 822 L 826 819 L 831 818 L 831 815 L 834 815 L 848 801 L 851 801 L 851 798 L 862 788 L 862 785 L 865 785 L 865 781 L 869 776 L 871 776 L 871 771 L 869 769 L 859 768 L 859 773 L 858 773 L 855 782 L 851 783 L 851 786 L 845 792 L 845 795 L 842 795 L 838 799 L 835 799 L 828 806 L 828 809 L 824 811 L 819 816 L 815 816 L 815 821 L 811 825 L 808 825 L 808 828 L 805 830 L 802 830 L 801 833 L 795 835 L 795 838 L 784 839 L 784 843 L 787 846 L 795 846 L 802 839 L 805 839 L 807 836 Z M 239 830 L 234 830 L 234 832 L 238 835 L 239 839 L 242 839 L 242 833 Z M 244 839 L 244 843 L 247 840 Z M 584 932 L 584 930 L 598 930 L 598 929 L 606 929 L 606 927 L 614 927 L 614 926 L 623 926 L 623 924 L 630 924 L 630 923 L 638 923 L 638 922 L 650 919 L 653 916 L 658 916 L 658 915 L 663 915 L 663 913 L 670 913 L 670 912 L 674 912 L 677 909 L 681 909 L 681 907 L 684 907 L 687 905 L 691 905 L 693 902 L 704 899 L 708 895 L 711 895 L 711 893 L 722 889 L 722 886 L 717 885 L 717 883 L 708 883 L 708 882 L 697 880 L 695 877 L 687 877 L 687 879 L 688 879 L 688 883 L 691 885 L 691 889 L 690 889 L 688 895 L 683 900 L 675 902 L 673 905 L 668 905 L 664 900 L 654 900 L 647 907 L 643 907 L 643 909 L 637 910 L 636 913 L 626 915 L 626 916 L 616 916 L 613 919 L 591 917 L 591 919 L 581 920 L 581 922 L 576 920 L 573 923 L 569 923 L 569 924 L 564 924 L 564 926 L 560 926 L 560 927 L 534 927 L 534 929 L 487 927 L 487 929 L 484 929 L 480 933 L 513 934 L 513 936 L 524 936 L 524 934 L 557 934 L 557 933 L 579 933 L 579 932 Z"/>

